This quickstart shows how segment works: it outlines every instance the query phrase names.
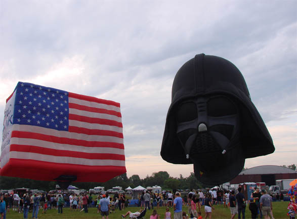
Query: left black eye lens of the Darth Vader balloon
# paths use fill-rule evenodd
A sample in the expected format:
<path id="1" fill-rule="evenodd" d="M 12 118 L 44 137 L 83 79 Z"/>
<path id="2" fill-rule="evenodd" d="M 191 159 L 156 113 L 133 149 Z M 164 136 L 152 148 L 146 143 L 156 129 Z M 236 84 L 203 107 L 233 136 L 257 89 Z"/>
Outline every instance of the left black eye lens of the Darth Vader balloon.
<path id="1" fill-rule="evenodd" d="M 193 102 L 186 102 L 179 106 L 177 110 L 178 122 L 188 122 L 197 118 L 197 107 Z"/>

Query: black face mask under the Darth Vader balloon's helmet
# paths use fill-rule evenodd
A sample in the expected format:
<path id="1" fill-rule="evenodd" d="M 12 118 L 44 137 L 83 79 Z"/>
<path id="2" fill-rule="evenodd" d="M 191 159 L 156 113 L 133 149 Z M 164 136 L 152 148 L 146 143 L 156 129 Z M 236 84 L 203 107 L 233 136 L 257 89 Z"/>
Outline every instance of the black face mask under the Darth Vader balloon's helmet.
<path id="1" fill-rule="evenodd" d="M 187 99 L 179 104 L 176 119 L 187 159 L 202 172 L 227 167 L 228 152 L 239 147 L 240 139 L 240 115 L 234 100 L 226 96 Z"/>

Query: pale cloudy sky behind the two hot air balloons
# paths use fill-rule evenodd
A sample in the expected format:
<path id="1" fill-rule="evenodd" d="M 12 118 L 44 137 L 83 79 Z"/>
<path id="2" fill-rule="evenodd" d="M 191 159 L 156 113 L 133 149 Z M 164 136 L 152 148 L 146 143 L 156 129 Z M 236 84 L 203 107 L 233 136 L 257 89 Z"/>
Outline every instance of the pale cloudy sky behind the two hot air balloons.
<path id="1" fill-rule="evenodd" d="M 276 148 L 245 167 L 296 163 L 296 8 L 294 0 L 1 0 L 0 111 L 18 81 L 119 102 L 128 176 L 187 177 L 192 165 L 160 157 L 172 82 L 196 54 L 216 55 L 243 74 Z"/>

